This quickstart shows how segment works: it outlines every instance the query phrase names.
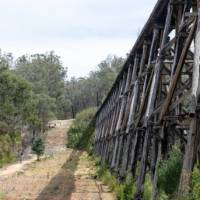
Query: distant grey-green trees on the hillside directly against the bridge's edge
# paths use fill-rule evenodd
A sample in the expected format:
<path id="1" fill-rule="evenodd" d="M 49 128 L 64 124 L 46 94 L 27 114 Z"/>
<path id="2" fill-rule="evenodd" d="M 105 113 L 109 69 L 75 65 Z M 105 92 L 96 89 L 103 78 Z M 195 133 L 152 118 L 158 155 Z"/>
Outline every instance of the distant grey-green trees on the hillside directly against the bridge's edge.
<path id="1" fill-rule="evenodd" d="M 66 98 L 71 101 L 73 116 L 88 107 L 99 106 L 112 87 L 124 59 L 109 56 L 88 77 L 72 78 L 66 82 Z"/>

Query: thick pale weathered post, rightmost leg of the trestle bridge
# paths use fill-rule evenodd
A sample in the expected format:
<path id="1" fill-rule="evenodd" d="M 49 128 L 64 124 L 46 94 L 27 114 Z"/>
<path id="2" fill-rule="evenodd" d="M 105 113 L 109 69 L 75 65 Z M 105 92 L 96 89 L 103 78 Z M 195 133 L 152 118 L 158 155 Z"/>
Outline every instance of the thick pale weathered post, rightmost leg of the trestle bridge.
<path id="1" fill-rule="evenodd" d="M 199 65 L 200 65 L 200 1 L 197 0 L 197 30 L 195 35 L 195 53 L 194 53 L 194 66 L 193 66 L 193 80 L 192 80 L 192 101 L 193 107 L 192 112 L 196 113 L 197 103 L 199 99 Z M 194 167 L 195 158 L 195 139 L 197 137 L 197 116 L 192 118 L 190 124 L 190 132 L 187 138 L 187 145 L 183 161 L 183 169 L 181 173 L 180 183 L 179 183 L 179 193 L 178 198 L 182 199 L 186 197 L 189 193 L 189 187 L 191 185 L 192 170 Z"/>

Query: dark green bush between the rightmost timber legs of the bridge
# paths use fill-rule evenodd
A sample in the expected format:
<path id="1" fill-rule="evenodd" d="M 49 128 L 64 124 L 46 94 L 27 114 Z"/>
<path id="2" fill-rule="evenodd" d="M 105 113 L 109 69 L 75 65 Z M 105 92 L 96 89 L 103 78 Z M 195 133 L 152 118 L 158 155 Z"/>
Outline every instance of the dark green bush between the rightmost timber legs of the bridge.
<path id="1" fill-rule="evenodd" d="M 178 188 L 182 170 L 182 154 L 178 149 L 173 149 L 167 160 L 164 160 L 159 167 L 158 185 L 161 191 L 172 196 Z"/>

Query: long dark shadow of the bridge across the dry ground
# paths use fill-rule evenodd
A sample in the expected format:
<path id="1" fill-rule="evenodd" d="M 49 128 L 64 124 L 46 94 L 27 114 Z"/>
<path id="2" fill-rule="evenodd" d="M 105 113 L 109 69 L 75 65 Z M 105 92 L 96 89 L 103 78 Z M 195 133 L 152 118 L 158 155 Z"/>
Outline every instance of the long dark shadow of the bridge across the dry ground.
<path id="1" fill-rule="evenodd" d="M 50 180 L 36 200 L 70 200 L 75 188 L 74 173 L 81 155 L 81 151 L 73 150 L 58 174 Z"/>

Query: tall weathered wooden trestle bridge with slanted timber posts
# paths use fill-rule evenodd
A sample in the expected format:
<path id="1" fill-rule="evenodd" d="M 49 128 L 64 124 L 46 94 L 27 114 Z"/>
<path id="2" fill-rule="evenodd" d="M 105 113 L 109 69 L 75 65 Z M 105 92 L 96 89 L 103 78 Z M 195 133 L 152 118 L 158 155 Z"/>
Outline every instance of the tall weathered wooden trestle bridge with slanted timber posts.
<path id="1" fill-rule="evenodd" d="M 159 163 L 175 143 L 183 153 L 177 198 L 188 193 L 200 161 L 199 82 L 200 0 L 158 0 L 95 116 L 95 152 L 119 180 L 132 172 L 133 199 L 142 199 L 146 173 L 156 198 Z"/>

